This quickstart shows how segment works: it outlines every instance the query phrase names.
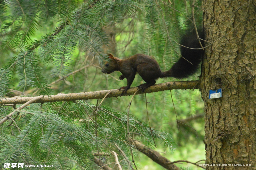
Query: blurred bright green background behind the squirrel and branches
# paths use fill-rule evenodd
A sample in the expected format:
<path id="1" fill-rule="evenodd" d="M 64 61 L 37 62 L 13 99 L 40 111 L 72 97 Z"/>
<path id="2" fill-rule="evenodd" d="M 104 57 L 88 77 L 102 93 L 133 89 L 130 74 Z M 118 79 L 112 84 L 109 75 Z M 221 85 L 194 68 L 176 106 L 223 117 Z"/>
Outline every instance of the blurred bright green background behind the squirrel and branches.
<path id="1" fill-rule="evenodd" d="M 20 3 L 23 5 L 23 1 L 20 1 Z M 44 15 L 36 18 L 33 30 L 29 30 L 26 33 L 12 32 L 12 30 L 15 30 L 15 26 L 5 28 L 6 23 L 15 20 L 14 11 L 19 7 L 17 4 L 15 6 L 12 1 L 7 3 L 5 12 L 1 14 L 0 67 L 5 68 L 14 56 L 28 49 L 36 40 L 40 41 L 43 36 L 53 33 L 54 29 L 66 19 L 66 15 L 70 14 L 71 16 L 72 11 L 80 8 L 82 4 L 89 2 L 72 1 L 72 3 L 73 8 L 70 8 L 67 13 L 60 15 L 59 12 L 56 12 L 52 16 Z M 116 1 L 116 3 L 119 3 L 119 1 Z M 126 2 L 122 1 L 122 3 Z M 144 53 L 157 60 L 162 71 L 169 70 L 179 58 L 179 46 L 175 41 L 178 42 L 185 30 L 191 25 L 188 22 L 188 18 L 192 19 L 191 4 L 192 1 L 186 0 L 138 1 L 136 2 L 136 7 L 129 9 L 131 13 L 120 12 L 114 15 L 114 18 L 111 19 L 111 16 L 105 19 L 104 22 L 99 21 L 99 23 L 92 20 L 91 22 L 95 23 L 94 26 L 100 29 L 108 40 L 106 45 L 99 47 L 103 57 L 92 55 L 91 49 L 86 49 L 79 45 L 74 46 L 70 49 L 69 59 L 64 64 L 66 70 L 62 74 L 54 74 L 55 61 L 45 61 L 44 58 L 39 57 L 39 67 L 42 68 L 41 71 L 46 84 L 54 82 L 67 73 L 76 71 L 83 66 L 90 65 L 70 75 L 65 80 L 51 85 L 52 91 L 50 94 L 91 92 L 126 86 L 126 79 L 123 81 L 119 80 L 120 72 L 114 72 L 109 75 L 101 72 L 100 67 L 104 63 L 104 59 L 106 59 L 105 54 L 108 53 L 112 53 L 120 59 L 127 58 L 136 53 Z M 200 1 L 196 1 L 196 5 L 200 6 Z M 29 9 L 24 8 L 24 10 Z M 195 8 L 195 11 L 197 25 L 201 27 L 202 11 L 200 8 Z M 70 16 L 69 19 L 72 20 L 73 18 Z M 97 17 L 100 16 L 95 15 L 95 18 Z M 16 26 L 18 25 L 17 23 Z M 28 28 L 29 24 L 24 22 L 20 26 Z M 24 37 L 26 38 L 21 38 L 22 33 L 25 34 Z M 17 36 L 17 34 L 20 36 Z M 93 39 L 90 41 L 93 41 Z M 24 45 L 17 46 L 17 42 L 23 42 Z M 41 55 L 38 49 L 35 49 L 34 52 L 39 56 Z M 200 70 L 197 74 L 186 80 L 198 80 L 199 75 Z M 157 80 L 156 84 L 168 81 L 178 80 L 164 78 Z M 20 85 L 20 82 L 20 75 L 14 69 L 12 76 L 9 78 L 10 88 L 23 92 L 25 96 L 37 96 L 40 94 L 40 89 L 35 91 L 36 86 L 24 86 Z M 141 83 L 144 82 L 137 74 L 132 87 L 138 86 Z M 187 160 L 197 162 L 204 160 L 204 104 L 201 99 L 201 93 L 197 89 L 172 90 L 172 95 L 178 120 L 184 123 L 179 124 L 179 127 L 176 123 L 170 91 L 146 94 L 147 102 L 150 102 L 147 104 L 147 107 L 151 127 L 171 134 L 176 143 L 175 150 L 170 152 L 161 142 L 156 141 L 157 148 L 155 150 L 170 161 Z M 8 95 L 6 96 L 8 97 Z M 103 105 L 116 110 L 127 111 L 130 100 L 131 96 L 106 98 Z M 96 104 L 97 100 L 87 100 L 86 102 Z M 144 94 L 134 97 L 130 114 L 148 123 Z M 196 131 L 185 124 L 193 127 Z M 139 169 L 164 169 L 140 152 L 135 153 L 135 162 Z M 176 165 L 184 169 L 196 169 L 196 166 L 187 163 Z"/>

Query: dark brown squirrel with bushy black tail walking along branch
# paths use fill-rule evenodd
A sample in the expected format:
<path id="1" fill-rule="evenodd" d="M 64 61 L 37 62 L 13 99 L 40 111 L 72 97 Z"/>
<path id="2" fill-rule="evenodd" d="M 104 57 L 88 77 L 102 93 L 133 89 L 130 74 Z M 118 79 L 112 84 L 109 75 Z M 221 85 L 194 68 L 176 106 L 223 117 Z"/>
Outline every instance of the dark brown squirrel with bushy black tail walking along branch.
<path id="1" fill-rule="evenodd" d="M 142 89 L 142 92 L 144 92 L 146 88 L 154 85 L 158 78 L 187 78 L 190 75 L 193 75 L 199 68 L 199 63 L 204 55 L 204 50 L 202 49 L 202 47 L 204 47 L 203 31 L 199 31 L 198 35 L 201 44 L 197 39 L 195 29 L 191 32 L 187 31 L 180 42 L 182 57 L 168 71 L 162 72 L 157 61 L 146 54 L 135 54 L 123 60 L 114 57 L 112 54 L 108 54 L 111 61 L 105 62 L 101 72 L 110 74 L 114 71 L 120 71 L 122 73 L 119 79 L 127 79 L 127 86 L 119 88 L 119 90 L 124 89 L 122 94 L 126 93 L 126 91 L 131 87 L 136 72 L 138 72 L 141 78 L 146 82 L 137 86 Z"/>

